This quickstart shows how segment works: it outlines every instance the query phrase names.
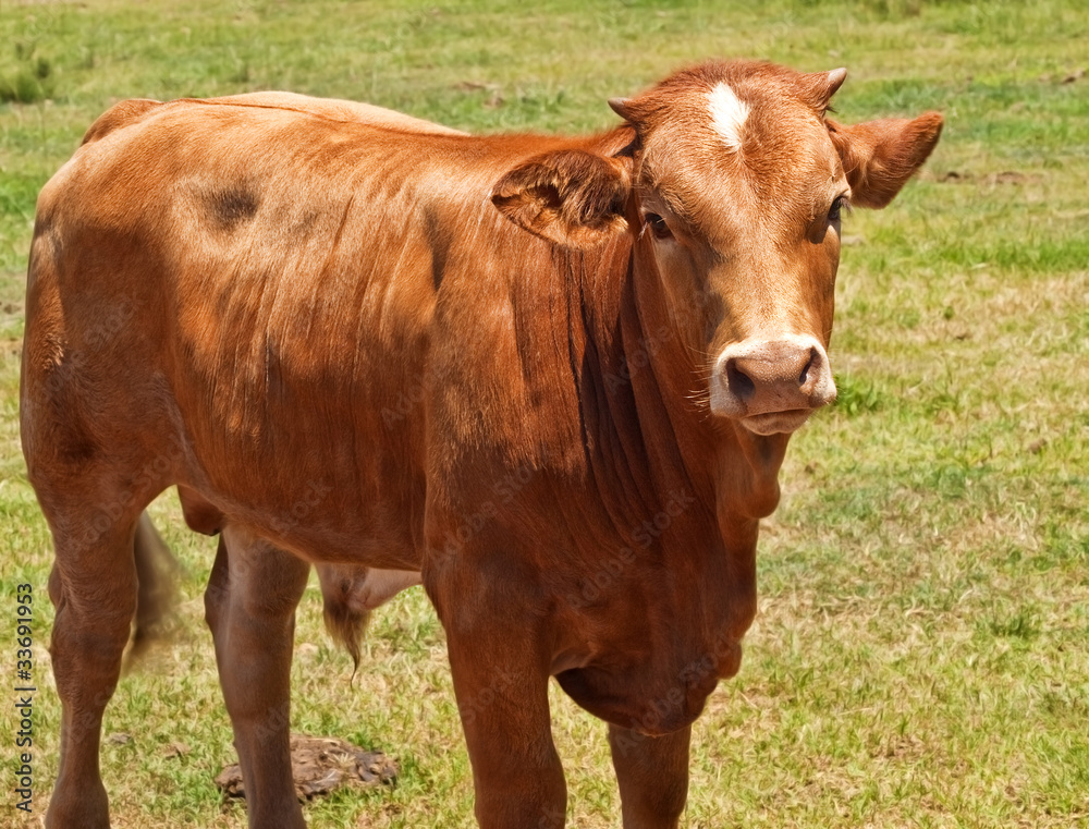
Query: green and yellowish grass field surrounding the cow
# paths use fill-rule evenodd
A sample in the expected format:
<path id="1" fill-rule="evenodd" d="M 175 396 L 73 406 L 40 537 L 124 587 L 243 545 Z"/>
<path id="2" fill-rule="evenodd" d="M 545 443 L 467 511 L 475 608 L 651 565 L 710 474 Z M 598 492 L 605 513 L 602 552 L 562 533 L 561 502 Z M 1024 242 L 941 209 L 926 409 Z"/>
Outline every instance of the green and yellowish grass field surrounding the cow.
<path id="1" fill-rule="evenodd" d="M 0 585 L 37 600 L 34 815 L 14 808 L 14 625 L 0 639 L 0 826 L 56 773 L 50 542 L 17 436 L 34 199 L 125 97 L 264 88 L 369 100 L 474 131 L 585 131 L 607 98 L 710 56 L 851 74 L 846 122 L 939 109 L 885 211 L 846 218 L 835 409 L 793 442 L 761 540 L 741 674 L 695 730 L 688 829 L 1089 826 L 1089 13 L 1081 0 L 522 4 L 0 1 Z M 176 643 L 107 711 L 118 827 L 241 827 L 200 593 L 213 542 L 173 496 Z M 294 728 L 380 747 L 396 788 L 307 806 L 315 827 L 473 826 L 443 634 L 418 588 L 363 669 L 299 610 Z M 617 827 L 604 727 L 553 693 L 568 822 Z M 178 751 L 178 744 L 184 744 Z"/>

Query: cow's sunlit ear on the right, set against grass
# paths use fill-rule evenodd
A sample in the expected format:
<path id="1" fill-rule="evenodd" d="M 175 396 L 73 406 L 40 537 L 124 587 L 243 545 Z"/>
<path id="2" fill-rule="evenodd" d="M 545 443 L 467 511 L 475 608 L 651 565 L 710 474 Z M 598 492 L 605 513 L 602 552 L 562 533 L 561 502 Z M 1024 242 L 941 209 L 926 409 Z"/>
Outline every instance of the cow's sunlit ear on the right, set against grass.
<path id="1" fill-rule="evenodd" d="M 922 167 L 942 134 L 942 117 L 927 112 L 916 119 L 886 118 L 843 126 L 827 121 L 829 135 L 843 160 L 851 203 L 884 207 Z"/>

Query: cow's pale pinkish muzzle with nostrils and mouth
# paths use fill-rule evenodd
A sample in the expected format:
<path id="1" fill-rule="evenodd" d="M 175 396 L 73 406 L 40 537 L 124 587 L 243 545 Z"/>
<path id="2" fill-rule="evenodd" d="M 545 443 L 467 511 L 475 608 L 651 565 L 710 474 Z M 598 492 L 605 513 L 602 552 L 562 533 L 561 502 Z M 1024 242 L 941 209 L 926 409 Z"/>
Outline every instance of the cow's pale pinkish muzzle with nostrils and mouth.
<path id="1" fill-rule="evenodd" d="M 719 355 L 711 377 L 711 411 L 761 435 L 794 431 L 834 399 L 828 354 L 813 337 L 734 343 Z"/>

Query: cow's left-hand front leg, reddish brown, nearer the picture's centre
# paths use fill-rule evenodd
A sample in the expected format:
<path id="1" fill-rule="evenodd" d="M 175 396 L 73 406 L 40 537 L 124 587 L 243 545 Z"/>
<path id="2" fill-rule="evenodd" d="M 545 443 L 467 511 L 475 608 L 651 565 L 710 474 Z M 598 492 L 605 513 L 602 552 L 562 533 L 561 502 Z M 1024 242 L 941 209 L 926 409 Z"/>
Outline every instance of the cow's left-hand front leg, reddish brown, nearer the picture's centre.
<path id="1" fill-rule="evenodd" d="M 562 829 L 567 788 L 552 743 L 548 660 L 530 634 L 535 620 L 504 610 L 462 608 L 444 622 L 477 821 L 480 829 Z"/>

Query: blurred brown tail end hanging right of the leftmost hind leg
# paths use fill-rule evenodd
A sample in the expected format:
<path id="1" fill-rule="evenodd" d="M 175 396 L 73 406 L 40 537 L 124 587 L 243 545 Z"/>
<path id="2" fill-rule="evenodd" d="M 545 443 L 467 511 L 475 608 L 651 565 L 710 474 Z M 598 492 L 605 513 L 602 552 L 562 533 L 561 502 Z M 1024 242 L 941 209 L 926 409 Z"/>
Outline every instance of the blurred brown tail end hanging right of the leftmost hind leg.
<path id="1" fill-rule="evenodd" d="M 178 561 L 146 512 L 136 524 L 133 554 L 138 588 L 129 650 L 130 665 L 143 656 L 149 645 L 166 636 L 168 622 L 173 615 L 174 581 L 178 575 Z"/>

